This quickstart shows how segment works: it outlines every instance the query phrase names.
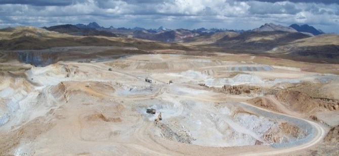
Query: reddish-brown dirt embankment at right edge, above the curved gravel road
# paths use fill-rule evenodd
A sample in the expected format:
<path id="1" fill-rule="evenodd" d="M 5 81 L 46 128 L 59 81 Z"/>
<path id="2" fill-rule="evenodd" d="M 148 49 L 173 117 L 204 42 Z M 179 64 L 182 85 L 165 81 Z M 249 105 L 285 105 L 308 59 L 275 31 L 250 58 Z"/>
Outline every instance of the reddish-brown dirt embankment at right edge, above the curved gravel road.
<path id="1" fill-rule="evenodd" d="M 286 113 L 285 109 L 296 111 L 315 121 L 323 122 L 322 119 L 317 117 L 317 112 L 335 113 L 335 111 L 339 111 L 339 100 L 336 94 L 330 95 L 324 89 L 324 86 L 328 85 L 296 84 L 285 89 L 275 90 L 275 93 L 266 94 L 274 95 L 274 97 L 261 96 L 248 100 L 248 102 L 279 113 Z M 279 102 L 273 99 L 277 99 Z M 282 105 L 280 106 L 277 103 Z"/>

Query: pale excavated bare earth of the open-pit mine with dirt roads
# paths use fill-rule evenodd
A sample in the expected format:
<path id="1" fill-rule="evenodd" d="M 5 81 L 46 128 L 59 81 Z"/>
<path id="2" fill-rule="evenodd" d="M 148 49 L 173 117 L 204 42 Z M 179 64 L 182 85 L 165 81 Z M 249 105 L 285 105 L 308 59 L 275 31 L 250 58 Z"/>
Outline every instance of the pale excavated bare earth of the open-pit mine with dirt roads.
<path id="1" fill-rule="evenodd" d="M 339 77 L 242 58 L 142 54 L 2 71 L 0 155 L 337 154 L 324 138 L 339 125 Z"/>

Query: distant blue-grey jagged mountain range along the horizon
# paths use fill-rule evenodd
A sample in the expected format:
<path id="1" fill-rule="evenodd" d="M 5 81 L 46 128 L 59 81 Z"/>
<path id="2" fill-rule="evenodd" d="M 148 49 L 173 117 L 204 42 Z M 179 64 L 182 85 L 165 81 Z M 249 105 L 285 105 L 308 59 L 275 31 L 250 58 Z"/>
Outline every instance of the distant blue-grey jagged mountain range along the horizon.
<path id="1" fill-rule="evenodd" d="M 317 30 L 309 25 L 297 25 L 292 24 L 291 26 L 282 26 L 276 25 L 273 23 L 262 25 L 259 28 L 253 30 L 228 30 L 228 29 L 217 29 L 217 28 L 199 28 L 194 30 L 186 29 L 176 29 L 171 30 L 163 26 L 157 29 L 145 29 L 141 27 L 135 28 L 114 28 L 113 26 L 109 28 L 104 28 L 96 22 L 91 22 L 88 25 L 85 24 L 76 24 L 76 25 L 59 25 L 52 27 L 44 27 L 44 29 L 55 31 L 59 33 L 65 33 L 70 35 L 77 36 L 108 36 L 108 37 L 129 37 L 129 38 L 138 38 L 138 39 L 147 39 L 160 42 L 185 42 L 195 40 L 194 37 L 197 36 L 210 36 L 213 34 L 220 34 L 222 32 L 234 32 L 234 33 L 245 33 L 245 32 L 270 32 L 270 31 L 282 31 L 289 33 L 298 33 L 314 36 L 323 34 L 321 30 Z M 220 35 L 217 35 L 220 37 Z M 192 39 L 189 39 L 192 38 Z M 202 38 L 200 37 L 200 39 Z M 207 43 L 207 42 L 206 42 Z"/>

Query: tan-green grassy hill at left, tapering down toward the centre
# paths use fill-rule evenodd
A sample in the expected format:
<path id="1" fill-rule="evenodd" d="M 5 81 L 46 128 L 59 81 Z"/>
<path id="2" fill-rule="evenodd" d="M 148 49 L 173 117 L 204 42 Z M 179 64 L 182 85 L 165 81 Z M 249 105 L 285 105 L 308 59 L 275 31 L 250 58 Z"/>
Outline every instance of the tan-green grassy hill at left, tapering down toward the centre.
<path id="1" fill-rule="evenodd" d="M 165 44 L 149 40 L 106 37 L 106 36 L 75 36 L 61 34 L 34 27 L 18 27 L 0 29 L 0 50 L 38 50 L 65 46 L 117 46 L 136 47 L 141 50 L 150 49 L 186 49 L 176 44 Z"/>

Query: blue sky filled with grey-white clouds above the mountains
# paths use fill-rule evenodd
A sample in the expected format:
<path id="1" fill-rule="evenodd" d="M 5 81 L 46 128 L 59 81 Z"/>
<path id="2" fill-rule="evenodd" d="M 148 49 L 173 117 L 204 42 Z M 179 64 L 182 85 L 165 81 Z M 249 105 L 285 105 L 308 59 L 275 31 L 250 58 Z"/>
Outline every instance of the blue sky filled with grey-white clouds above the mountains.
<path id="1" fill-rule="evenodd" d="M 339 0 L 0 0 L 0 28 L 93 21 L 104 27 L 170 29 L 296 23 L 339 33 Z"/>

